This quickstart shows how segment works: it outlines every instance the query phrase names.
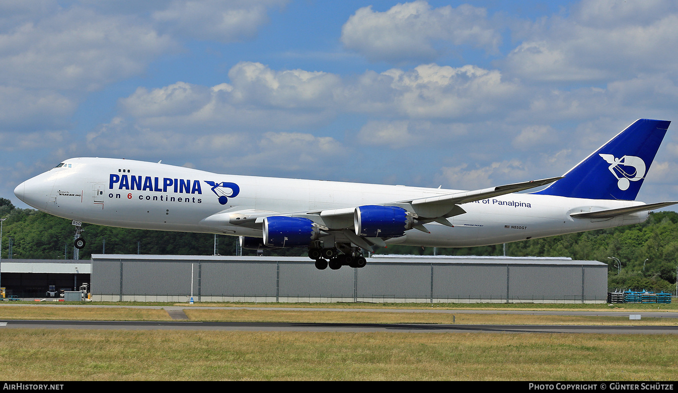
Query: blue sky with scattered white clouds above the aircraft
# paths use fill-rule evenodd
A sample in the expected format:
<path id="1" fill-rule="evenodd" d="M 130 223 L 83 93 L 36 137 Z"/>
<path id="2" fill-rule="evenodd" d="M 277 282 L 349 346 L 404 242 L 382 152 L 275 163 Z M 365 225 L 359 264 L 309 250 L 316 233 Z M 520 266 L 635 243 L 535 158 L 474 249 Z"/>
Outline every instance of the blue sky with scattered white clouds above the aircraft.
<path id="1" fill-rule="evenodd" d="M 676 120 L 675 1 L 0 1 L 0 197 L 70 157 L 476 189 Z M 678 198 L 678 125 L 639 199 Z"/>

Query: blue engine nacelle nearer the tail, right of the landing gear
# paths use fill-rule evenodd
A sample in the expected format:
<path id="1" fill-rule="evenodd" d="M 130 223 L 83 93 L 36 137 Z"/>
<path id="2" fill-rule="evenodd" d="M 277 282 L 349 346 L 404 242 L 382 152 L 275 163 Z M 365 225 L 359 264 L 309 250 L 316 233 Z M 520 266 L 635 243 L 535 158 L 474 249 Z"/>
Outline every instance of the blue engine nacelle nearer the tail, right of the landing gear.
<path id="1" fill-rule="evenodd" d="M 402 207 L 365 205 L 355 208 L 355 234 L 365 237 L 399 237 L 412 229 L 414 218 Z"/>

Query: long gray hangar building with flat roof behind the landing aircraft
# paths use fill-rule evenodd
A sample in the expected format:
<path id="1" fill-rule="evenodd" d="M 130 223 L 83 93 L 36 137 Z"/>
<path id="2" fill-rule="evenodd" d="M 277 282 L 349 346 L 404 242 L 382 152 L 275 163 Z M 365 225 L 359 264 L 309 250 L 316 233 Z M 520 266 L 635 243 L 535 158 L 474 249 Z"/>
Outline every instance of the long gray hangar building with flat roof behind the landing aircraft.
<path id="1" fill-rule="evenodd" d="M 603 303 L 607 264 L 562 257 L 92 255 L 94 301 Z"/>

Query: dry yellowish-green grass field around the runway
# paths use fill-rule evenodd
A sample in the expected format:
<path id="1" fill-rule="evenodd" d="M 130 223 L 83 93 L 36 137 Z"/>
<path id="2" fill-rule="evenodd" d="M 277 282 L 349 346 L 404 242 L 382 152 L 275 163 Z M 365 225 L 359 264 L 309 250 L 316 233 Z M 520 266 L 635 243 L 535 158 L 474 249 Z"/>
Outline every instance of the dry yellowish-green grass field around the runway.
<path id="1" fill-rule="evenodd" d="M 184 310 L 191 320 L 451 323 L 450 314 L 397 311 L 399 307 L 412 308 L 410 304 L 367 305 L 368 308 L 387 308 L 388 312 L 297 311 L 285 310 L 285 307 L 272 311 L 212 310 L 191 309 L 185 304 L 159 305 L 185 306 Z M 64 308 L 2 304 L 0 319 L 169 320 L 167 312 L 159 309 L 91 306 Z M 332 307 L 330 304 L 284 306 Z M 335 306 L 356 308 L 358 305 Z M 466 305 L 443 307 L 452 306 L 466 308 Z M 473 306 L 481 306 L 479 308 L 486 310 L 485 306 L 488 305 Z M 504 308 L 504 305 L 493 306 Z M 563 305 L 531 306 L 553 309 Z M 597 310 L 612 309 L 606 305 L 584 306 L 607 307 Z M 646 305 L 638 306 L 641 306 L 639 310 L 650 310 Z M 419 306 L 424 307 L 431 308 L 431 305 Z M 522 305 L 518 308 L 525 309 Z M 570 309 L 582 310 L 576 307 Z M 656 305 L 653 310 L 657 310 Z M 624 314 L 629 311 L 632 310 L 622 310 Z M 663 310 L 660 308 L 658 311 Z M 670 319 L 629 321 L 628 315 L 564 317 L 456 314 L 456 323 L 548 324 L 570 321 L 586 325 L 666 325 L 671 322 Z M 3 379 L 25 381 L 666 381 L 676 379 L 677 351 L 678 337 L 675 335 L 98 331 L 0 327 Z"/>

